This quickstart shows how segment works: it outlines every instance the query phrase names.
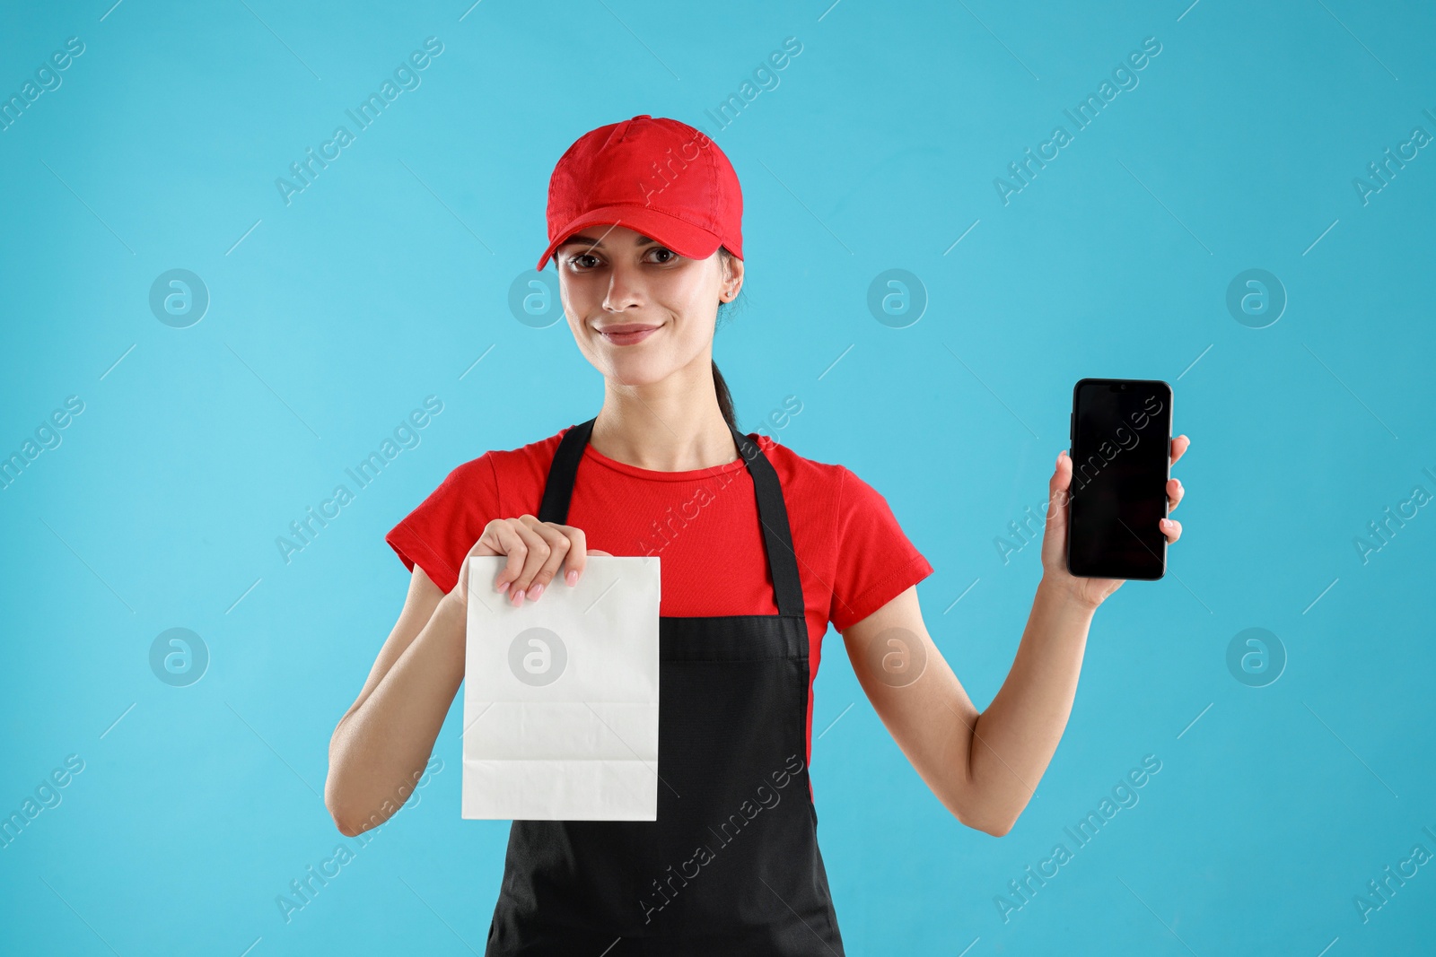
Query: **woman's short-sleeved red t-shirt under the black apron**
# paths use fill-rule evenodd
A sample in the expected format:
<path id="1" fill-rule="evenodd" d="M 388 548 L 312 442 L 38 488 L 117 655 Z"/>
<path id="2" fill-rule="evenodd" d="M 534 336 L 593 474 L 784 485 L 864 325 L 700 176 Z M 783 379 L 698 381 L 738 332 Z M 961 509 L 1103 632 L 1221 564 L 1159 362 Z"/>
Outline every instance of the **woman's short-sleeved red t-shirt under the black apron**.
<path id="1" fill-rule="evenodd" d="M 567 428 L 520 449 L 491 451 L 460 465 L 385 541 L 445 593 L 484 527 L 538 514 L 549 465 Z M 807 758 L 813 758 L 813 694 L 823 634 L 862 621 L 932 574 L 886 499 L 841 465 L 806 459 L 748 433 L 773 463 L 793 528 L 808 627 Z M 663 617 L 777 614 L 752 476 L 744 461 L 688 472 L 653 472 L 584 446 L 569 525 L 589 548 L 662 557 Z M 550 588 L 561 588 L 554 577 Z M 540 598 L 541 601 L 541 598 Z"/>

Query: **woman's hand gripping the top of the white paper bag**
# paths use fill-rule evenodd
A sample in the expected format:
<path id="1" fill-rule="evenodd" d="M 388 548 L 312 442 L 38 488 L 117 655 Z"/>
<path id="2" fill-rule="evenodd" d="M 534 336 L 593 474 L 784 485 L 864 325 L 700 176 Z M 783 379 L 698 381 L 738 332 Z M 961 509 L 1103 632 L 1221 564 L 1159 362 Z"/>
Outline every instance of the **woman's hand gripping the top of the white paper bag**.
<path id="1" fill-rule="evenodd" d="M 468 560 L 474 555 L 508 558 L 508 564 L 494 578 L 493 588 L 500 594 L 507 593 L 516 605 L 523 604 L 526 597 L 537 601 L 560 568 L 564 581 L 573 587 L 579 583 L 589 555 L 612 557 L 606 551 L 587 548 L 582 528 L 540 522 L 533 515 L 495 518 L 468 550 L 458 584 L 449 593 L 461 607 L 468 604 Z"/>

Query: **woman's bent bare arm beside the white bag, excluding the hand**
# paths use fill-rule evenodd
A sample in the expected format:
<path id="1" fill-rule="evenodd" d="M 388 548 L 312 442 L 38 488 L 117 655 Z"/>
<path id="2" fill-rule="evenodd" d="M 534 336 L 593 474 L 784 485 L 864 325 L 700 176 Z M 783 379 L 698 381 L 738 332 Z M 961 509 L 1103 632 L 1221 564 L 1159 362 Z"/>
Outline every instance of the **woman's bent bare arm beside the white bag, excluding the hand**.
<path id="1" fill-rule="evenodd" d="M 412 793 L 464 680 L 464 633 L 462 605 L 415 565 L 399 620 L 329 742 L 325 805 L 342 834 L 383 824 Z"/>

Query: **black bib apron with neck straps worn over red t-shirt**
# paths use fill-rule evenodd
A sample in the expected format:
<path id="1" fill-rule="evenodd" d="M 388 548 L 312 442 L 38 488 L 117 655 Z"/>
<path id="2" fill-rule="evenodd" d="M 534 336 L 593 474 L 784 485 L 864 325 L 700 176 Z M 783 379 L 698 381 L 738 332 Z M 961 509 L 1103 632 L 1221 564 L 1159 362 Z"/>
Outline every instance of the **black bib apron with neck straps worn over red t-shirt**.
<path id="1" fill-rule="evenodd" d="M 593 419 L 538 519 L 566 524 Z M 843 957 L 807 773 L 808 634 L 783 488 L 752 476 L 778 614 L 659 617 L 658 821 L 514 821 L 485 957 Z"/>

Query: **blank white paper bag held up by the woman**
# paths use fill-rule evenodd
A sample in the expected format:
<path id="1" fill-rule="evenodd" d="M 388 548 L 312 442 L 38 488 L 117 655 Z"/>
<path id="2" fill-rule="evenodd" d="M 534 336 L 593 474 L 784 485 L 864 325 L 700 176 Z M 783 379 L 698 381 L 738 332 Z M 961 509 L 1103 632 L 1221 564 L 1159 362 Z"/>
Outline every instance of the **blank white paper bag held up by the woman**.
<path id="1" fill-rule="evenodd" d="M 468 558 L 462 816 L 658 819 L 656 557 L 589 555 L 514 607 Z"/>

